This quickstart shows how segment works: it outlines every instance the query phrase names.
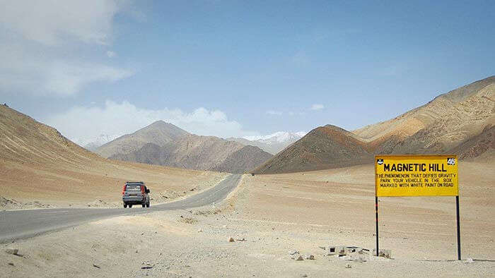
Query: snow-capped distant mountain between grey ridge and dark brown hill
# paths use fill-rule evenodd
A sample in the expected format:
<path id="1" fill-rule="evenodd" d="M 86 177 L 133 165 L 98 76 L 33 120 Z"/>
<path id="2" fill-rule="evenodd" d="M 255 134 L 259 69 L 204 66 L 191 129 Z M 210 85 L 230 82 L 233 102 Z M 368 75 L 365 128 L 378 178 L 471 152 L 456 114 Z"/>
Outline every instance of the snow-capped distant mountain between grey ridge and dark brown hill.
<path id="1" fill-rule="evenodd" d="M 235 141 L 243 145 L 259 147 L 265 152 L 276 155 L 277 152 L 284 150 L 287 146 L 301 139 L 304 132 L 284 132 L 279 131 L 270 135 L 261 136 L 260 138 L 227 138 L 229 141 Z"/>

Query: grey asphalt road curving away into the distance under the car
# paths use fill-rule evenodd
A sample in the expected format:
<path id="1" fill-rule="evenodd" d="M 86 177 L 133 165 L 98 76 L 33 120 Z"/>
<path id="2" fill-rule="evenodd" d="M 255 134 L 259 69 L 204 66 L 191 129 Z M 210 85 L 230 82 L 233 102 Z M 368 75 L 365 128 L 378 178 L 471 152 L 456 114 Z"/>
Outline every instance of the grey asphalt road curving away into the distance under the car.
<path id="1" fill-rule="evenodd" d="M 240 174 L 232 174 L 219 184 L 190 198 L 172 203 L 153 205 L 151 207 L 134 206 L 131 209 L 47 209 L 47 210 L 13 210 L 0 212 L 0 243 L 20 238 L 37 236 L 38 234 L 57 229 L 64 229 L 95 219 L 104 219 L 120 215 L 142 214 L 163 210 L 184 210 L 218 203 L 238 185 Z M 119 194 L 116 192 L 115 194 Z"/>

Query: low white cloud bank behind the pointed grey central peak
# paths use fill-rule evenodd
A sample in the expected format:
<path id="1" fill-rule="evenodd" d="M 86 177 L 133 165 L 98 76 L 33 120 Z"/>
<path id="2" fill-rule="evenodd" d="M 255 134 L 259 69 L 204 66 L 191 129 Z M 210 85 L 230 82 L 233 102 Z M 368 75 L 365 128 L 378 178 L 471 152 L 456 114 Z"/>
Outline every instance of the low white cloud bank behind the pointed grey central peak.
<path id="1" fill-rule="evenodd" d="M 257 135 L 245 131 L 237 121 L 227 118 L 223 111 L 203 107 L 192 112 L 180 109 L 142 109 L 129 102 L 105 102 L 105 107 L 73 107 L 55 114 L 43 122 L 57 128 L 67 138 L 83 143 L 105 135 L 124 135 L 148 126 L 154 121 L 166 121 L 198 135 L 215 135 L 222 138 Z"/>

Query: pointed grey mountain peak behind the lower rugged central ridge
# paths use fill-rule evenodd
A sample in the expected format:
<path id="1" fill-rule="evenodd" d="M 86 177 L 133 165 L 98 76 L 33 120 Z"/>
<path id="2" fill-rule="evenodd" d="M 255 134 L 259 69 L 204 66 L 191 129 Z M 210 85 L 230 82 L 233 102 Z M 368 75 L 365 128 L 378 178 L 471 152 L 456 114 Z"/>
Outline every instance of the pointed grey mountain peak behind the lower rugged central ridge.
<path id="1" fill-rule="evenodd" d="M 149 126 L 141 128 L 139 131 L 123 135 L 120 138 L 98 147 L 95 152 L 102 157 L 129 154 L 139 150 L 147 143 L 163 146 L 189 134 L 190 133 L 187 133 L 187 131 L 174 126 L 172 123 L 156 121 Z"/>

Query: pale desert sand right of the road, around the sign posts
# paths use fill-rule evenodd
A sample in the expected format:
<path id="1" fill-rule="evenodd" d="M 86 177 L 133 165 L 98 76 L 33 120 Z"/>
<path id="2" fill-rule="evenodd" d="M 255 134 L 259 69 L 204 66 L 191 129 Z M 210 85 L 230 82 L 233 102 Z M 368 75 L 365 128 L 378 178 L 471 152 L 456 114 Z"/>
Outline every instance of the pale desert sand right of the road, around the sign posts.
<path id="1" fill-rule="evenodd" d="M 6 277 L 491 277 L 495 165 L 460 162 L 462 258 L 453 197 L 380 198 L 380 248 L 337 258 L 320 246 L 374 248 L 373 165 L 244 175 L 222 203 L 115 217 L 8 243 Z M 233 237 L 235 242 L 228 242 Z M 244 240 L 243 240 L 244 239 Z M 315 260 L 291 259 L 293 250 Z M 348 260 L 346 260 L 346 258 Z M 467 258 L 473 260 L 466 260 Z M 8 265 L 11 263 L 12 265 Z"/>

